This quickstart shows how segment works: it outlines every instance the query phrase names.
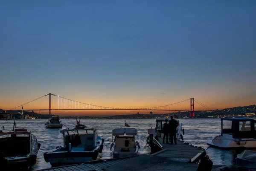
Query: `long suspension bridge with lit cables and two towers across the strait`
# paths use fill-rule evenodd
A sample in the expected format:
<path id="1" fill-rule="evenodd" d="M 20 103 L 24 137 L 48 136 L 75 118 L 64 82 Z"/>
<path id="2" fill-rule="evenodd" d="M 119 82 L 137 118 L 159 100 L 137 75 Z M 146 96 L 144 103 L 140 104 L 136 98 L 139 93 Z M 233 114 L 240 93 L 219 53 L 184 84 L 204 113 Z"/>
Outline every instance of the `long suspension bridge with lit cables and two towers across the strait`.
<path id="1" fill-rule="evenodd" d="M 23 107 L 26 107 L 27 104 L 30 104 L 34 101 L 38 101 L 39 99 L 45 98 L 46 96 L 49 96 L 49 108 L 28 108 L 25 109 Z M 53 102 L 55 102 L 54 107 L 53 106 Z M 189 104 L 190 102 L 190 109 L 186 106 L 185 104 Z M 204 107 L 206 110 L 194 110 L 194 102 L 196 102 L 197 104 L 201 105 L 202 107 Z M 180 105 L 183 107 L 180 108 Z M 185 107 L 186 106 L 186 107 Z M 21 107 L 21 109 L 20 109 Z M 179 108 L 179 109 L 175 109 L 175 107 Z M 65 97 L 61 97 L 61 96 L 57 96 L 55 94 L 52 93 L 48 93 L 45 94 L 44 96 L 40 96 L 36 99 L 33 99 L 31 101 L 28 101 L 24 104 L 20 104 L 16 107 L 13 107 L 10 110 L 25 110 L 25 111 L 34 111 L 34 110 L 49 110 L 49 114 L 51 114 L 51 110 L 158 110 L 158 111 L 187 111 L 190 112 L 190 117 L 194 117 L 195 116 L 195 112 L 212 112 L 213 110 L 211 110 L 209 107 L 207 107 L 206 105 L 204 105 L 203 103 L 201 103 L 200 101 L 194 99 L 194 98 L 190 98 L 190 99 L 186 99 L 183 101 L 179 101 L 177 103 L 172 103 L 172 104 L 166 104 L 166 105 L 162 105 L 162 106 L 157 106 L 157 107 L 142 107 L 142 108 L 122 108 L 122 107 L 107 107 L 107 106 L 99 106 L 96 104 L 89 104 L 89 103 L 84 103 L 84 102 L 80 102 L 80 101 L 76 101 L 76 100 L 72 100 L 72 99 L 68 99 Z"/>

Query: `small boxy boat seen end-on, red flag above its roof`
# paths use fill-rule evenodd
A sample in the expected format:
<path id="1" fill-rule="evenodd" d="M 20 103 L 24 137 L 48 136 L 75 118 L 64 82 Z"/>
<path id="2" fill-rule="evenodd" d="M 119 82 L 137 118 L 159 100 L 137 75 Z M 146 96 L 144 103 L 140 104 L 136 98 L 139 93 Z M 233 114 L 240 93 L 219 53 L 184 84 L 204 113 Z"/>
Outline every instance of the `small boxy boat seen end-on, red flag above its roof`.
<path id="1" fill-rule="evenodd" d="M 137 130 L 135 128 L 112 130 L 113 142 L 110 150 L 113 154 L 113 158 L 133 157 L 138 155 L 140 145 L 139 142 L 137 142 L 135 135 L 137 135 Z M 114 140 L 113 136 L 115 136 Z"/>

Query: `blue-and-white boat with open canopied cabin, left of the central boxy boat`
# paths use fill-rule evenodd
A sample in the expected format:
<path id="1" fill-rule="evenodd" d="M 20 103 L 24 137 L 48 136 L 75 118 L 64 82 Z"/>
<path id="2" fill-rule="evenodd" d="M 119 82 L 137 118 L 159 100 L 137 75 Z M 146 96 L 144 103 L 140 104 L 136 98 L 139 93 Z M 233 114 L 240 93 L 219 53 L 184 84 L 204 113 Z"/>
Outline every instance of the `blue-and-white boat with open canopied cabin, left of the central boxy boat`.
<path id="1" fill-rule="evenodd" d="M 104 139 L 97 135 L 95 128 L 65 129 L 63 147 L 44 153 L 46 162 L 52 166 L 70 165 L 96 160 L 102 152 Z"/>

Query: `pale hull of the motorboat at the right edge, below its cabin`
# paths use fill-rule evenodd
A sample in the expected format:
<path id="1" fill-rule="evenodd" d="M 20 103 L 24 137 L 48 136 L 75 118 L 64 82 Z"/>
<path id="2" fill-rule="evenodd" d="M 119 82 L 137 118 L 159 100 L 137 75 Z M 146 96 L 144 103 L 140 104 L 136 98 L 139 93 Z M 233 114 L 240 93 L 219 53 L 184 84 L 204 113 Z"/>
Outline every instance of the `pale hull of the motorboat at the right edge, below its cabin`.
<path id="1" fill-rule="evenodd" d="M 221 149 L 256 148 L 256 139 L 233 139 L 231 135 L 216 136 L 207 145 Z"/>

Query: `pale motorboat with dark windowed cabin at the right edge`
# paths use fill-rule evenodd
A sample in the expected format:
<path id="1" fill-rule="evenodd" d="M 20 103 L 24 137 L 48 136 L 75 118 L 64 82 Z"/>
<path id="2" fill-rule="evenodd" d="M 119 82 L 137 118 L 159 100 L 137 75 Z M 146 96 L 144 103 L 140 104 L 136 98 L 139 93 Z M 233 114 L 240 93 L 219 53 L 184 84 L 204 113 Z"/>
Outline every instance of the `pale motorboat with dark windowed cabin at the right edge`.
<path id="1" fill-rule="evenodd" d="M 221 118 L 221 135 L 207 145 L 214 148 L 256 148 L 256 119 Z"/>

